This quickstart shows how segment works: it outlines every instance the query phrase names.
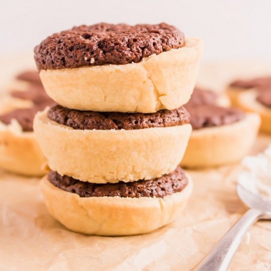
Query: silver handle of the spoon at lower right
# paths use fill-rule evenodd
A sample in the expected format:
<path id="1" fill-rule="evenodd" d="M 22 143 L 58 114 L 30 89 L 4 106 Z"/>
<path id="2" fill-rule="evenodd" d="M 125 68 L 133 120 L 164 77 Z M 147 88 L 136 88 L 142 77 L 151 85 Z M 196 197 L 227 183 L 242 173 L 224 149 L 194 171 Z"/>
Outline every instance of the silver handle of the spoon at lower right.
<path id="1" fill-rule="evenodd" d="M 262 215 L 261 210 L 249 209 L 204 258 L 196 271 L 226 271 L 242 237 Z"/>

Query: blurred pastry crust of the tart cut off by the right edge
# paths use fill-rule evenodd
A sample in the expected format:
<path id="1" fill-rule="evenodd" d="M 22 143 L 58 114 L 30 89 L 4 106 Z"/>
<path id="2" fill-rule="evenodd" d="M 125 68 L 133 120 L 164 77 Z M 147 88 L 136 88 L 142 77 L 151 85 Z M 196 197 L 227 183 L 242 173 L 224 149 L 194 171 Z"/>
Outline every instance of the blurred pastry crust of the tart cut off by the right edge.
<path id="1" fill-rule="evenodd" d="M 261 116 L 262 132 L 271 133 L 271 108 L 256 100 L 257 91 L 254 89 L 243 92 L 238 97 L 238 106 L 248 112 L 256 112 Z"/>

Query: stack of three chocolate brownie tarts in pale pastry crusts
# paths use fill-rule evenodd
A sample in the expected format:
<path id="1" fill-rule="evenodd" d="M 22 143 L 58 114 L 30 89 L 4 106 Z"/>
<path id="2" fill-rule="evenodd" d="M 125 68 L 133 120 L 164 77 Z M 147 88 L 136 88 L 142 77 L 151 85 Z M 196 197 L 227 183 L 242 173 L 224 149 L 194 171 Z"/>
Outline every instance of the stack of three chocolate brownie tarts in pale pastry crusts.
<path id="1" fill-rule="evenodd" d="M 165 23 L 82 25 L 35 47 L 44 88 L 58 103 L 34 119 L 51 169 L 41 189 L 68 229 L 135 235 L 178 216 L 192 192 L 178 166 L 192 130 L 182 105 L 202 47 Z"/>

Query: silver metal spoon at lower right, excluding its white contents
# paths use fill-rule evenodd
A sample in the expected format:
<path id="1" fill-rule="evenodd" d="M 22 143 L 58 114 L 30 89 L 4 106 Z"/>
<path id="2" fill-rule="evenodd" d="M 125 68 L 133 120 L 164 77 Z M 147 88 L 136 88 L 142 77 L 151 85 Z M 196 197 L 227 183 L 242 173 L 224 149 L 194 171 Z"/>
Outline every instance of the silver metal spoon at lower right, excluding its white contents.
<path id="1" fill-rule="evenodd" d="M 226 271 L 250 226 L 259 219 L 271 219 L 270 202 L 264 201 L 259 195 L 247 191 L 239 184 L 237 185 L 237 194 L 250 209 L 222 237 L 200 265 L 196 267 L 196 271 Z"/>

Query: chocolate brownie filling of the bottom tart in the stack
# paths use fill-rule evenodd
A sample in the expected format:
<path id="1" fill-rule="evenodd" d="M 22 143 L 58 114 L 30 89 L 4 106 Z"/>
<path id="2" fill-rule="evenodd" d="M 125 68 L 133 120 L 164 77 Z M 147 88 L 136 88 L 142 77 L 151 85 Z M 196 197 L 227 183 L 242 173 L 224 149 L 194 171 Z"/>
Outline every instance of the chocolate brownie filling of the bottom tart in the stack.
<path id="1" fill-rule="evenodd" d="M 83 198 L 116 196 L 122 198 L 163 198 L 181 192 L 188 184 L 188 178 L 180 167 L 160 178 L 127 183 L 123 181 L 106 184 L 82 182 L 66 175 L 61 176 L 56 171 L 49 172 L 48 180 L 56 187 Z"/>

